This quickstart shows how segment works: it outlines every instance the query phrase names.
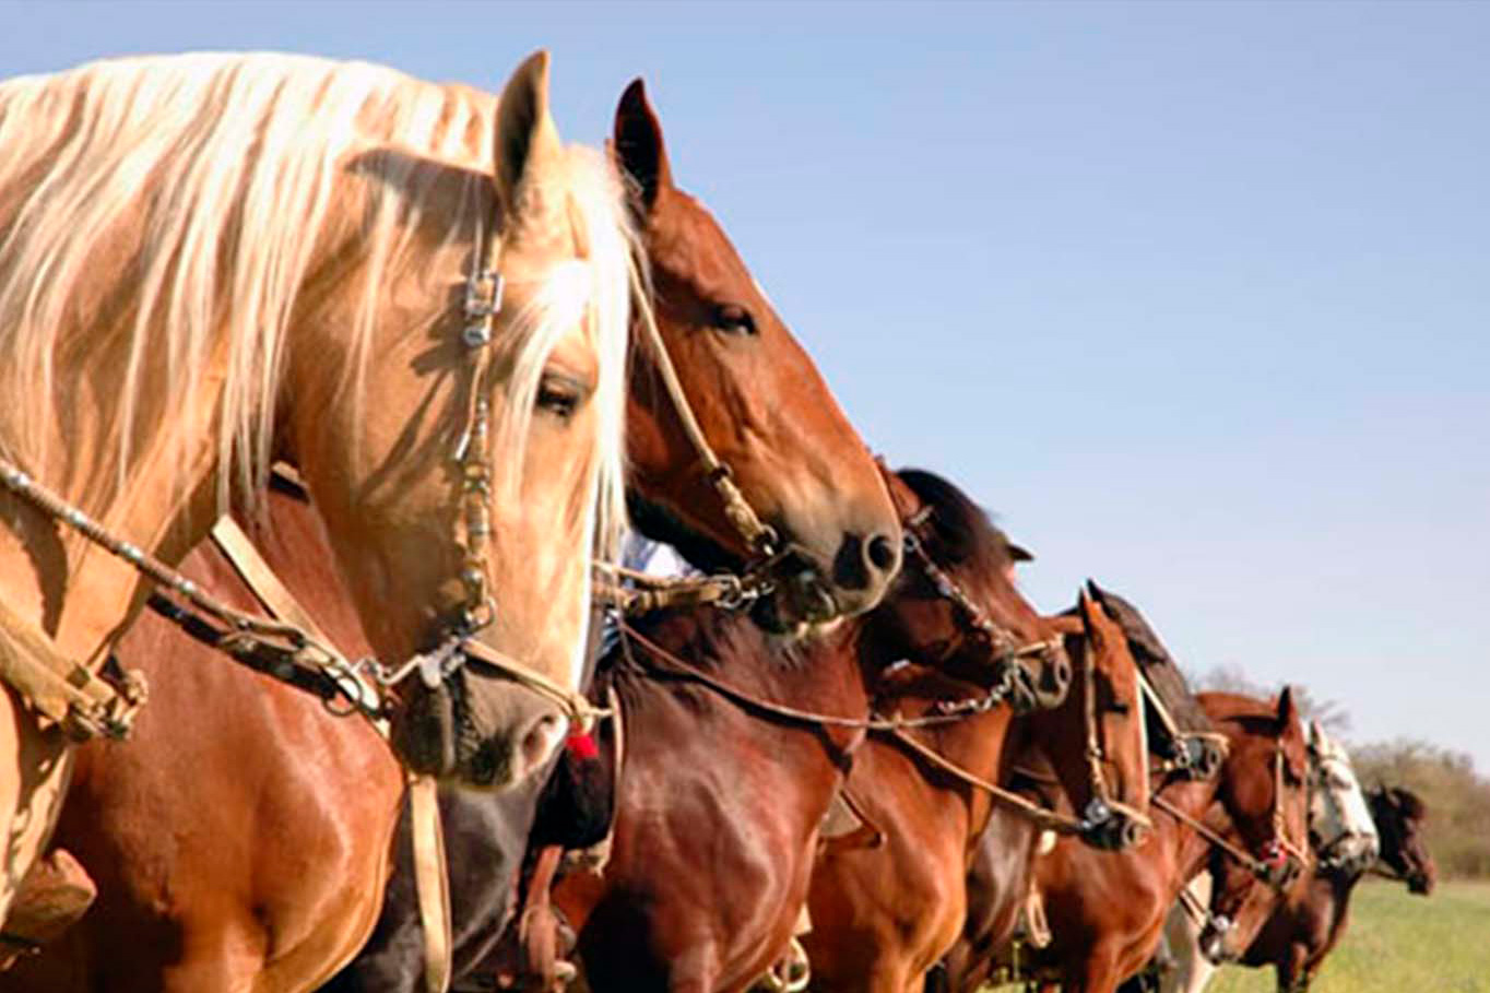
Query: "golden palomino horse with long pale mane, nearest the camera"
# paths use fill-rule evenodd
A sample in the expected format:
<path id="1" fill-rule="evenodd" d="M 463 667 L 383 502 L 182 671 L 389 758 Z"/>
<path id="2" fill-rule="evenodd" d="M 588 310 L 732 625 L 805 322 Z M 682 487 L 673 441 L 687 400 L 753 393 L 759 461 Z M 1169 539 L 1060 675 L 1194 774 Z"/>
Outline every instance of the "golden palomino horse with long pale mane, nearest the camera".
<path id="1" fill-rule="evenodd" d="M 440 649 L 389 701 L 405 762 L 502 786 L 551 754 L 623 516 L 639 277 L 621 183 L 547 94 L 542 54 L 501 100 L 279 55 L 0 86 L 7 671 L 97 669 L 143 602 L 128 561 L 179 561 L 283 459 L 377 656 Z M 134 544 L 101 555 L 37 485 Z M 4 911 L 70 766 L 49 719 L 97 714 L 0 707 Z"/>

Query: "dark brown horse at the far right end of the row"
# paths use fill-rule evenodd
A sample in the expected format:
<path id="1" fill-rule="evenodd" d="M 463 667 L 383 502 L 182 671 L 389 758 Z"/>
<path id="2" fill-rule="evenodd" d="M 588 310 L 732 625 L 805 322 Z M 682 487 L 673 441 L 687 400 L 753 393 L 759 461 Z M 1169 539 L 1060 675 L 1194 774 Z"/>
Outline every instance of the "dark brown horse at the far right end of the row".
<path id="1" fill-rule="evenodd" d="M 1335 772 L 1332 778 L 1340 775 Z M 1354 783 L 1353 775 L 1350 783 Z M 1241 965 L 1274 968 L 1278 993 L 1304 993 L 1313 986 L 1326 956 L 1345 935 L 1350 898 L 1375 856 L 1380 854 L 1381 862 L 1392 866 L 1393 875 L 1413 893 L 1426 896 L 1433 889 L 1436 871 L 1421 835 L 1427 816 L 1423 802 L 1410 790 L 1383 789 L 1372 792 L 1368 804 L 1374 836 L 1380 836 L 1380 853 L 1372 844 L 1362 857 L 1331 857 L 1338 848 L 1331 851 L 1317 845 L 1319 859 L 1311 874 L 1299 877 L 1281 896 L 1262 893 L 1262 899 L 1249 901 L 1246 914 L 1226 935 L 1231 947 L 1243 945 L 1244 951 L 1237 959 Z M 1202 881 L 1210 883 L 1208 877 L 1196 880 Z M 1208 901 L 1208 886 L 1201 887 L 1196 896 Z M 1256 914 L 1259 920 L 1249 920 L 1249 914 Z M 1159 989 L 1167 993 L 1201 993 L 1216 966 L 1202 953 L 1199 929 L 1191 918 L 1171 914 L 1165 936 L 1179 968 L 1162 978 Z"/>

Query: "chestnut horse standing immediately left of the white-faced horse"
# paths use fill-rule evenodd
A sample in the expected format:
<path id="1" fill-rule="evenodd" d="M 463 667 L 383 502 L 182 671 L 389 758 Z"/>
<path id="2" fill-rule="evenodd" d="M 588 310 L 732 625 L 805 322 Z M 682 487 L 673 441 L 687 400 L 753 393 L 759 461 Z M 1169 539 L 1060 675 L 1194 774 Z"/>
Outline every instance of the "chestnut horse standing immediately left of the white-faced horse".
<path id="1" fill-rule="evenodd" d="M 1112 993 L 1149 960 L 1165 914 L 1210 854 L 1213 842 L 1198 830 L 1216 835 L 1207 811 L 1237 829 L 1244 847 L 1234 845 L 1232 857 L 1259 872 L 1277 874 L 1286 853 L 1305 842 L 1307 757 L 1292 692 L 1275 704 L 1225 693 L 1198 699 L 1228 743 L 1217 778 L 1171 774 L 1152 798 L 1153 833 L 1143 845 L 1098 853 L 1062 839 L 1036 860 L 1050 941 L 1021 959 L 1043 989 Z M 958 980 L 952 989 L 961 989 Z"/>

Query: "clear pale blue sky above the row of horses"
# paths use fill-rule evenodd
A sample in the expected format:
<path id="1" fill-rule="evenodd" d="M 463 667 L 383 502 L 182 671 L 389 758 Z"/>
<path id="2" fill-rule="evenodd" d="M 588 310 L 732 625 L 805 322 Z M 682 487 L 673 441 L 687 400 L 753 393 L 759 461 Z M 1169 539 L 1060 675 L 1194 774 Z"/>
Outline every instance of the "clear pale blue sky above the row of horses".
<path id="1" fill-rule="evenodd" d="M 1191 666 L 1490 771 L 1490 6 L 0 4 L 0 75 L 270 48 L 597 143 L 647 78 L 873 446 Z"/>

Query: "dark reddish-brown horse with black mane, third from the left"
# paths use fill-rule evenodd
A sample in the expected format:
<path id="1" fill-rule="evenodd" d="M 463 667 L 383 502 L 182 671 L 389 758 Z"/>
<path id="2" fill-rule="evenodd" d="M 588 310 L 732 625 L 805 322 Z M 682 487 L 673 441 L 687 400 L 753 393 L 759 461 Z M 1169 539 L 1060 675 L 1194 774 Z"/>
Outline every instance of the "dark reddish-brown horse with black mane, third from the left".
<path id="1" fill-rule="evenodd" d="M 930 474 L 900 480 L 893 491 L 907 519 L 925 517 L 921 547 L 948 583 L 907 565 L 876 611 L 799 647 L 691 611 L 651 620 L 645 640 L 612 653 L 630 738 L 611 860 L 603 875 L 571 875 L 554 893 L 592 989 L 742 990 L 782 956 L 808 896 L 820 825 L 863 728 L 784 714 L 703 680 L 858 722 L 867 686 L 900 659 L 1001 672 L 1000 641 L 968 607 L 1001 637 L 1049 635 L 1009 581 L 1003 535 L 982 511 Z M 1044 661 L 1068 665 L 1056 652 Z"/>

